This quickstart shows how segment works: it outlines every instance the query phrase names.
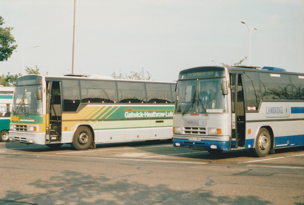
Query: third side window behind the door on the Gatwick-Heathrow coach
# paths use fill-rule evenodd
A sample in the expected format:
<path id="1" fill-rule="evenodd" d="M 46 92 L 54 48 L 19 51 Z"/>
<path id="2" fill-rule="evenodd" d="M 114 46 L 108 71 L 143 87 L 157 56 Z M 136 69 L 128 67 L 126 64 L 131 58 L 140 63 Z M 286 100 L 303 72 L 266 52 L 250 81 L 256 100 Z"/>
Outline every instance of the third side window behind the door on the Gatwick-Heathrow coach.
<path id="1" fill-rule="evenodd" d="M 120 103 L 146 103 L 144 83 L 117 82 Z"/>

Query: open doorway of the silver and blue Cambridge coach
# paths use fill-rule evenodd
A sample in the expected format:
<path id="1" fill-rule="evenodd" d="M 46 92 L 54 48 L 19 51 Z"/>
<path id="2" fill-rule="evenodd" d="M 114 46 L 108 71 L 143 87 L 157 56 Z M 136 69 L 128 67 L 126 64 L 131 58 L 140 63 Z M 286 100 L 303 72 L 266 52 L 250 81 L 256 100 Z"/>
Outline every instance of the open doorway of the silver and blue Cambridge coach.
<path id="1" fill-rule="evenodd" d="M 230 74 L 232 132 L 231 148 L 245 147 L 245 109 L 242 75 Z"/>

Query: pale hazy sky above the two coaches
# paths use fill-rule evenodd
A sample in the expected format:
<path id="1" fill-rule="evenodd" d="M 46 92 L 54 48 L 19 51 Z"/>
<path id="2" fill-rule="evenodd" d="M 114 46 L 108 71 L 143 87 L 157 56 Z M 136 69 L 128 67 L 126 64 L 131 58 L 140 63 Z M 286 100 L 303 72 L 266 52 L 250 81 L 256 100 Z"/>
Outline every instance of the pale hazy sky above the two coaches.
<path id="1" fill-rule="evenodd" d="M 19 50 L 0 62 L 0 75 L 22 73 L 22 54 L 24 66 L 42 74 L 71 73 L 74 0 L 0 0 L 0 16 Z M 211 60 L 247 56 L 248 65 L 249 31 L 240 21 L 258 28 L 251 65 L 304 72 L 303 0 L 76 0 L 74 73 L 144 68 L 154 80 L 175 81 Z"/>

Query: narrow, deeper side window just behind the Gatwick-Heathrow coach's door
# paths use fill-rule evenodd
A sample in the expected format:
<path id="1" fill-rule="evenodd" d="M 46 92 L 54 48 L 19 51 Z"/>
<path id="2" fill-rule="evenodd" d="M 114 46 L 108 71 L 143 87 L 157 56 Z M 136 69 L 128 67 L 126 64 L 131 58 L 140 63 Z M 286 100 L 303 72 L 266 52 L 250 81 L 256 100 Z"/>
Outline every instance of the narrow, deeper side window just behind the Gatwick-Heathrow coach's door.
<path id="1" fill-rule="evenodd" d="M 76 112 L 80 104 L 79 81 L 62 80 L 63 111 Z"/>

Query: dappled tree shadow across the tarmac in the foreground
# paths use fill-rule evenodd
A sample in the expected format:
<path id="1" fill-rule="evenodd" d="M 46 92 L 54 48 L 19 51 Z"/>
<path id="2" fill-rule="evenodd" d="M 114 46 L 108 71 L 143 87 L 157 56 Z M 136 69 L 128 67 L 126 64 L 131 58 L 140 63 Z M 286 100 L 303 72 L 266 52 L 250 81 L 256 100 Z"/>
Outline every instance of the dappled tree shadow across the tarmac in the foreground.
<path id="1" fill-rule="evenodd" d="M 49 180 L 28 184 L 35 193 L 7 190 L 1 204 L 270 204 L 257 196 L 214 196 L 202 188 L 185 191 L 167 185 L 147 186 L 104 175 L 61 172 Z"/>

